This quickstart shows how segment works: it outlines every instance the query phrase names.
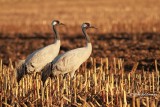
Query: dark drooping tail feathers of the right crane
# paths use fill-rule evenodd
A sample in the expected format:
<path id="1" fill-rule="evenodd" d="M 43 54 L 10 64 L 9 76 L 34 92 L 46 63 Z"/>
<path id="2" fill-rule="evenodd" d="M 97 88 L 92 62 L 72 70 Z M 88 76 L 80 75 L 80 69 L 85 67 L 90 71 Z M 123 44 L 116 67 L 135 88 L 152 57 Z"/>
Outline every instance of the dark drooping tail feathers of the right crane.
<path id="1" fill-rule="evenodd" d="M 47 80 L 47 78 L 50 76 L 51 74 L 51 63 L 48 63 L 43 69 L 42 69 L 42 76 L 41 76 L 41 80 L 43 82 L 43 86 L 45 84 L 45 81 Z"/>

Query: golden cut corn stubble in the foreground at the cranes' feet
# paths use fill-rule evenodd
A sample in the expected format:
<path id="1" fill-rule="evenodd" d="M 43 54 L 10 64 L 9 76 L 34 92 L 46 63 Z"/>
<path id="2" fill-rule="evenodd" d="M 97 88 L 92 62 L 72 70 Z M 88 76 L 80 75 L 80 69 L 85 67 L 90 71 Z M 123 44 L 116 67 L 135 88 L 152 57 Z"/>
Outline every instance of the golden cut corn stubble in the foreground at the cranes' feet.
<path id="1" fill-rule="evenodd" d="M 26 75 L 18 84 L 16 70 L 10 60 L 4 66 L 0 60 L 0 106 L 120 106 L 157 107 L 160 104 L 159 71 L 124 71 L 124 60 L 90 58 L 76 72 L 74 79 L 62 75 L 48 78 L 45 85 L 40 75 Z"/>

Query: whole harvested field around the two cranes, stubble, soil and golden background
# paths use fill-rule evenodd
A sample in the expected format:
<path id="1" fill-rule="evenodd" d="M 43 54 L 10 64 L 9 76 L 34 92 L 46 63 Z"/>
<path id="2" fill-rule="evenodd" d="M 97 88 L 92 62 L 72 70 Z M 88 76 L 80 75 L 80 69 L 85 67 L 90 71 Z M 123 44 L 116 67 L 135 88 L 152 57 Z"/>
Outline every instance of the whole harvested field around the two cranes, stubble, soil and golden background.
<path id="1" fill-rule="evenodd" d="M 160 1 L 158 0 L 0 0 L 0 107 L 160 105 Z M 25 75 L 18 84 L 15 63 L 54 41 L 60 53 L 85 46 L 81 24 L 93 45 L 75 78 Z M 73 86 L 72 86 L 73 84 Z"/>

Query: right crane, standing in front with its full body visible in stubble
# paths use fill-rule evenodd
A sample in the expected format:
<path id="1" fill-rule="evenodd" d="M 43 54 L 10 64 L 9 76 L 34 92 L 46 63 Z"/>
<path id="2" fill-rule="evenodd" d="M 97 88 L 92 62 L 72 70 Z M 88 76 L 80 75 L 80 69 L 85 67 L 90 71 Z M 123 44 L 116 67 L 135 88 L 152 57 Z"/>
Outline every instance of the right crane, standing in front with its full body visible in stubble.
<path id="1" fill-rule="evenodd" d="M 71 78 L 73 78 L 75 71 L 89 58 L 92 52 L 92 44 L 86 30 L 95 27 L 91 26 L 89 23 L 83 23 L 81 28 L 87 41 L 86 46 L 70 50 L 57 56 L 50 64 L 47 65 L 45 71 L 42 72 L 41 80 L 43 83 L 45 83 L 46 79 L 51 75 L 55 76 L 70 73 Z"/>

